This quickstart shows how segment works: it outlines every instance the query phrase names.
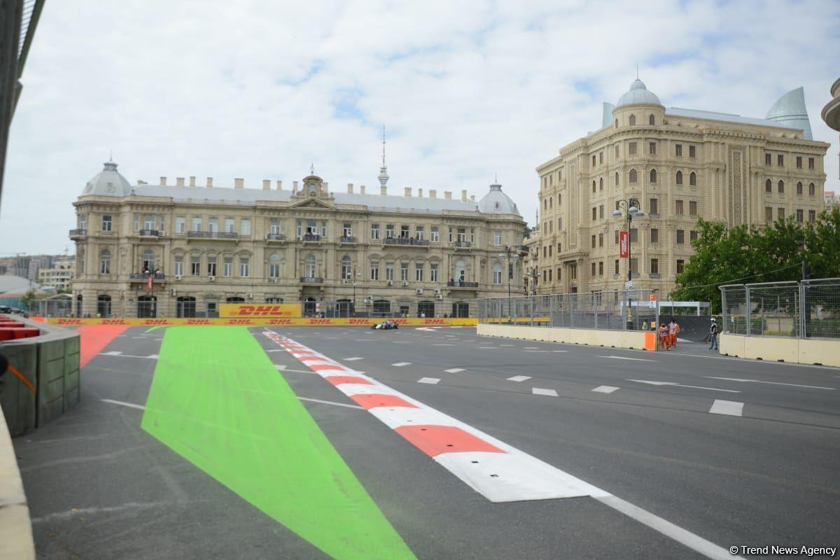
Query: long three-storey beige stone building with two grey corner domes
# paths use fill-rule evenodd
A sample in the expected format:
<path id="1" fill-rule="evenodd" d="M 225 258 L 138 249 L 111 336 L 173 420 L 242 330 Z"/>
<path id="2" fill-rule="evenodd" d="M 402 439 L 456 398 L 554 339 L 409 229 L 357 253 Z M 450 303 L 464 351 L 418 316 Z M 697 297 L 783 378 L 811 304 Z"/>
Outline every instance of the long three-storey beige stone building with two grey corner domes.
<path id="1" fill-rule="evenodd" d="M 76 313 L 215 317 L 223 302 L 302 301 L 326 317 L 470 317 L 476 298 L 507 295 L 501 253 L 521 245 L 525 223 L 501 185 L 480 201 L 393 196 L 384 161 L 379 181 L 339 192 L 312 170 L 285 190 L 195 177 L 132 186 L 108 162 L 74 203 Z"/>

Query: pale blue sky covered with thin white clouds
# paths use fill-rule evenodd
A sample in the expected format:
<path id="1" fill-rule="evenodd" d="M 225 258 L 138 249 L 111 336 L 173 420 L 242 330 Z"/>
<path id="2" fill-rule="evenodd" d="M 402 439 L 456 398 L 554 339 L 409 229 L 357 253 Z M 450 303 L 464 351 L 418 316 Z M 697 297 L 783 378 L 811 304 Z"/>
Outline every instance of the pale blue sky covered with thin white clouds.
<path id="1" fill-rule="evenodd" d="M 534 170 L 600 128 L 636 77 L 665 107 L 763 118 L 805 86 L 814 139 L 840 77 L 840 2 L 237 2 L 45 4 L 15 113 L 3 253 L 60 254 L 72 202 L 110 154 L 135 184 L 261 188 L 310 165 L 346 191 L 462 189 L 497 174 L 533 222 Z M 272 183 L 273 184 L 273 183 Z M 378 188 L 374 188 L 378 192 Z"/>

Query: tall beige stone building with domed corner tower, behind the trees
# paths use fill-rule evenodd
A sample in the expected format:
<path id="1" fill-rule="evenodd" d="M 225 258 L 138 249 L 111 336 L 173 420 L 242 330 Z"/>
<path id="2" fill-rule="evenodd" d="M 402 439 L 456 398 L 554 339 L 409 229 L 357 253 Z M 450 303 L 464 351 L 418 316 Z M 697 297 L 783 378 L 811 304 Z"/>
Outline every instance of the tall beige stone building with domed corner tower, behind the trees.
<path id="1" fill-rule="evenodd" d="M 538 293 L 675 287 L 692 254 L 699 217 L 763 226 L 778 217 L 814 220 L 825 202 L 823 156 L 811 139 L 803 92 L 766 118 L 666 109 L 636 80 L 602 128 L 537 168 L 540 181 Z M 636 198 L 632 258 L 619 258 L 617 201 Z"/>

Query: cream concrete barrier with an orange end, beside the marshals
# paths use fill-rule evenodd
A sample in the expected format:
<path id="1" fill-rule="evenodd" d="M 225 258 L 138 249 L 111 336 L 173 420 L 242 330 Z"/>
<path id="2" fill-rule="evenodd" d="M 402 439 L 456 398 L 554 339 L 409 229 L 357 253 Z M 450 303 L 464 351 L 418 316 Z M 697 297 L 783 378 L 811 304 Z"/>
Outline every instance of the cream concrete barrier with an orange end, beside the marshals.
<path id="1" fill-rule="evenodd" d="M 600 331 L 588 328 L 514 327 L 481 323 L 478 334 L 485 337 L 519 338 L 546 343 L 587 344 L 611 348 L 656 349 L 656 335 L 640 331 Z"/>

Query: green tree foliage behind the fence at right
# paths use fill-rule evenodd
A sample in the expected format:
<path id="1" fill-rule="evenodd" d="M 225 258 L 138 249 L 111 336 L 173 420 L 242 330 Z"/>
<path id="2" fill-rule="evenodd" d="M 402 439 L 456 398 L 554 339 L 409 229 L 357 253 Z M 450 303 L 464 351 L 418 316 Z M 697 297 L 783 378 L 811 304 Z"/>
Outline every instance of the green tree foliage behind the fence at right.
<path id="1" fill-rule="evenodd" d="M 675 300 L 711 301 L 721 309 L 720 285 L 801 280 L 802 263 L 811 278 L 840 277 L 840 209 L 822 212 L 816 222 L 797 223 L 793 216 L 766 228 L 721 222 L 697 223 L 695 254 L 676 275 Z"/>

